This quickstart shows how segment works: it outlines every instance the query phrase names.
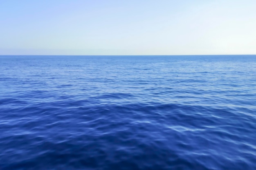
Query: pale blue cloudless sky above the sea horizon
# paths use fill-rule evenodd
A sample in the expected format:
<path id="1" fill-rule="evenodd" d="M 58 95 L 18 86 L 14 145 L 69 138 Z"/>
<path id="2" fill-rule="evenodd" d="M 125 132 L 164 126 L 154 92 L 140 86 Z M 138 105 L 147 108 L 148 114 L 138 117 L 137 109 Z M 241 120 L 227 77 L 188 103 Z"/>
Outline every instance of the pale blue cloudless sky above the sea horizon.
<path id="1" fill-rule="evenodd" d="M 256 0 L 0 0 L 0 55 L 256 54 Z"/>

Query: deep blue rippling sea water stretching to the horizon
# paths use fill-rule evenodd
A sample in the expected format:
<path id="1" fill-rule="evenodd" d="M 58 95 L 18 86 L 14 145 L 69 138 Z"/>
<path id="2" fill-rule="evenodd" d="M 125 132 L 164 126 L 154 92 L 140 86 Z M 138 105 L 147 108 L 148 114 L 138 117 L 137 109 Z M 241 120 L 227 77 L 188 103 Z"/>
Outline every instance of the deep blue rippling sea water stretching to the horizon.
<path id="1" fill-rule="evenodd" d="M 0 170 L 256 170 L 256 55 L 0 56 Z"/>

